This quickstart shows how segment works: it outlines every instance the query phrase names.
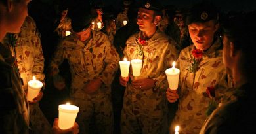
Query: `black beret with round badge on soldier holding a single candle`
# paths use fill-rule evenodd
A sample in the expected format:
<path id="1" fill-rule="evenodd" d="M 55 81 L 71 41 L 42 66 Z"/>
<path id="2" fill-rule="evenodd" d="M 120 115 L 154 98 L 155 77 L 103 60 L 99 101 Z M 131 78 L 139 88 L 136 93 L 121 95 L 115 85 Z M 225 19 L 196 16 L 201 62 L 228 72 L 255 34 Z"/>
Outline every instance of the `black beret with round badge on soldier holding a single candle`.
<path id="1" fill-rule="evenodd" d="M 219 20 L 217 7 L 211 3 L 199 3 L 190 8 L 187 17 L 186 25 L 194 22 L 208 22 L 209 20 Z"/>

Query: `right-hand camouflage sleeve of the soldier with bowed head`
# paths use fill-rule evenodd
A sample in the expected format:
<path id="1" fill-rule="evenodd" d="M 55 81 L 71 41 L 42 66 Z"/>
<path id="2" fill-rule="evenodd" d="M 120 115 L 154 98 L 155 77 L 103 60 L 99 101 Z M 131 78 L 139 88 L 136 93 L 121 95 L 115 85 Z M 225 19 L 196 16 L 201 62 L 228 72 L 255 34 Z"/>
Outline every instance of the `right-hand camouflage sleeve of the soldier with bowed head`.
<path id="1" fill-rule="evenodd" d="M 104 82 L 106 85 L 112 84 L 112 81 L 114 80 L 114 76 L 116 75 L 116 71 L 118 69 L 118 61 L 119 61 L 119 55 L 117 54 L 116 48 L 112 44 L 110 44 L 110 41 L 106 39 L 106 56 L 104 59 L 105 62 L 105 68 L 102 73 L 100 73 L 100 80 Z"/>

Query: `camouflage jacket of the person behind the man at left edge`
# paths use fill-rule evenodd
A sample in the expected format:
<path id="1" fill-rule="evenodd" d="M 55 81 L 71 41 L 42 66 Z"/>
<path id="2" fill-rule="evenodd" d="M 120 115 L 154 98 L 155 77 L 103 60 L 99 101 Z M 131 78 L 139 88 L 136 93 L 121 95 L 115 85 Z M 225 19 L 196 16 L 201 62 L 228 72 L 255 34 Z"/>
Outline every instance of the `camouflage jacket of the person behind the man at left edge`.
<path id="1" fill-rule="evenodd" d="M 12 56 L 16 58 L 24 90 L 28 89 L 28 81 L 32 80 L 32 76 L 35 76 L 37 80 L 44 80 L 43 67 L 45 59 L 33 18 L 26 17 L 20 33 L 7 35 L 3 44 L 10 48 Z"/>

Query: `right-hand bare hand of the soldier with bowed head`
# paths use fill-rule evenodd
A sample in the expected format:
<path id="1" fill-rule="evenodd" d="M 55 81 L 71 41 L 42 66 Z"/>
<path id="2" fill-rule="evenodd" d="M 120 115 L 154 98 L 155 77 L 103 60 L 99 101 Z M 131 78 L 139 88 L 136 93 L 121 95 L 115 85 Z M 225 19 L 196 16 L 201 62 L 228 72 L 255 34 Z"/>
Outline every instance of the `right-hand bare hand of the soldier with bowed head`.
<path id="1" fill-rule="evenodd" d="M 83 90 L 85 91 L 85 93 L 91 94 L 96 92 L 96 90 L 98 90 L 101 85 L 102 81 L 100 79 L 91 80 L 91 82 L 85 85 L 85 88 L 83 88 Z"/>

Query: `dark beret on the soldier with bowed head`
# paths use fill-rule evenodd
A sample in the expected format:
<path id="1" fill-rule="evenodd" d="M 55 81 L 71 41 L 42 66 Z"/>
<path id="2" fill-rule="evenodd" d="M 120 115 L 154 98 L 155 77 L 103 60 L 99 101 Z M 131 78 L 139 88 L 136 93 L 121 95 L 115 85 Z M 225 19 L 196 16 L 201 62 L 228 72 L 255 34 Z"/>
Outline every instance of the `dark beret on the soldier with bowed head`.
<path id="1" fill-rule="evenodd" d="M 71 26 L 74 32 L 85 31 L 93 21 L 91 14 L 88 12 L 80 12 L 79 14 L 75 14 L 71 19 Z"/>

